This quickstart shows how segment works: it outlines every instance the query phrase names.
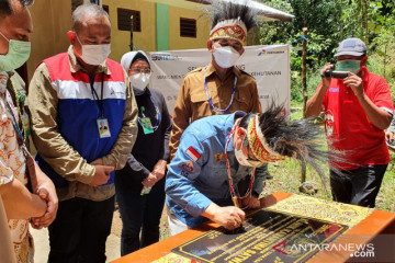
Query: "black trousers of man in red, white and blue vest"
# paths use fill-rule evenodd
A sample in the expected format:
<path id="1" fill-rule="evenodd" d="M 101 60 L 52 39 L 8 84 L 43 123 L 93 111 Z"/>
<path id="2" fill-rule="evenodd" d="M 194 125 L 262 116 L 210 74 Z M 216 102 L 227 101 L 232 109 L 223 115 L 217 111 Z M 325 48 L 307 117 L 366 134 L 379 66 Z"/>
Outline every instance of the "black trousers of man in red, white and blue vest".
<path id="1" fill-rule="evenodd" d="M 48 263 L 104 263 L 113 213 L 114 196 L 101 202 L 59 202 L 56 219 L 48 227 Z"/>

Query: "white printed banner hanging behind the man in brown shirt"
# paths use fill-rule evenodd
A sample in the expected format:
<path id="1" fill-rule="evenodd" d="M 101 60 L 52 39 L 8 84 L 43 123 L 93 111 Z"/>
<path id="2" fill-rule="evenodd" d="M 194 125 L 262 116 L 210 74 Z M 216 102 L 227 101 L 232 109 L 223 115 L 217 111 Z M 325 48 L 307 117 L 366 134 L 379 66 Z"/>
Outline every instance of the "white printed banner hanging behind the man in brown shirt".
<path id="1" fill-rule="evenodd" d="M 284 103 L 286 113 L 290 113 L 289 46 L 247 46 L 245 49 L 236 66 L 256 78 L 263 111 L 273 101 L 276 105 Z M 149 55 L 153 69 L 150 87 L 163 93 L 169 113 L 172 114 L 184 75 L 198 67 L 208 65 L 212 59 L 211 53 L 202 48 L 153 52 Z"/>

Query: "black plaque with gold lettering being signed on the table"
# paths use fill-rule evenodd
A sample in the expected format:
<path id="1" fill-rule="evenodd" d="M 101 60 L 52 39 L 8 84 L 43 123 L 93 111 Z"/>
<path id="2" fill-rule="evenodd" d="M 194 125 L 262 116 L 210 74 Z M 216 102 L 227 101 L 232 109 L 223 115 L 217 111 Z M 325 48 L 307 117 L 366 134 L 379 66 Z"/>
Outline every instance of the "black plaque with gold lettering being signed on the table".
<path id="1" fill-rule="evenodd" d="M 339 224 L 261 209 L 235 231 L 221 227 L 172 252 L 198 262 L 305 262 L 347 229 Z"/>

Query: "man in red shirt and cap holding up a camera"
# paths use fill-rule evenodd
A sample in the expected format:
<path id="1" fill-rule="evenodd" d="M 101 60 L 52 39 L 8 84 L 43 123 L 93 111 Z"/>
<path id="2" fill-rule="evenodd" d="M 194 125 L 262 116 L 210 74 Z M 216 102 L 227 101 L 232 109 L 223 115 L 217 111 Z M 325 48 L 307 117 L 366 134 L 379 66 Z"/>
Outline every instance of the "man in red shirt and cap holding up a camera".
<path id="1" fill-rule="evenodd" d="M 345 79 L 325 77 L 334 65 L 321 70 L 323 81 L 308 100 L 307 117 L 325 110 L 327 138 L 343 161 L 330 160 L 330 187 L 334 199 L 374 207 L 385 170 L 391 160 L 385 144 L 394 105 L 387 82 L 369 72 L 366 45 L 359 38 L 340 43 L 337 70 L 348 71 Z"/>

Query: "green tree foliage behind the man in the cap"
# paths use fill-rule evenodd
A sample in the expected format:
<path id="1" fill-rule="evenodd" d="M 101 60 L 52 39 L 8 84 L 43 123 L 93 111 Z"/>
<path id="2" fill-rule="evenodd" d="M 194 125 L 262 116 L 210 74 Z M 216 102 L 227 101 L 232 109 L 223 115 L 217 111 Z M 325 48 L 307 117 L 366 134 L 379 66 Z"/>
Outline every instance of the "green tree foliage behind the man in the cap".
<path id="1" fill-rule="evenodd" d="M 368 45 L 369 68 L 395 83 L 395 3 L 393 0 L 267 0 L 266 4 L 295 15 L 292 22 L 268 22 L 260 27 L 261 44 L 290 44 L 292 100 L 302 100 L 300 72 L 302 68 L 302 28 L 308 28 L 307 78 L 309 93 L 314 92 L 319 68 L 336 62 L 334 55 L 339 43 L 359 37 Z"/>

